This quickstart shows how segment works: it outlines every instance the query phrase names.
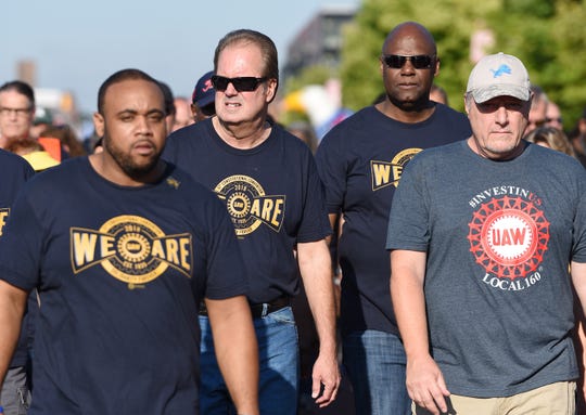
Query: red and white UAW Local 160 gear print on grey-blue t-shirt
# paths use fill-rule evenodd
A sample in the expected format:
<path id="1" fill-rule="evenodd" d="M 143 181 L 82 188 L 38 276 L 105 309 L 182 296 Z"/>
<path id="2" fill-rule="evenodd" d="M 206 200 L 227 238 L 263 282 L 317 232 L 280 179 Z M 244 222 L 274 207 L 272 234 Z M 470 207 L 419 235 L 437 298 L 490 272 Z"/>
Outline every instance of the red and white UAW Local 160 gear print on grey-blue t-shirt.
<path id="1" fill-rule="evenodd" d="M 477 197 L 489 192 L 509 194 L 492 195 L 479 203 Z M 468 234 L 470 252 L 485 270 L 482 281 L 502 290 L 530 288 L 542 280 L 539 265 L 549 242 L 549 222 L 540 209 L 540 199 L 513 186 L 486 193 L 471 200 L 479 209 Z"/>

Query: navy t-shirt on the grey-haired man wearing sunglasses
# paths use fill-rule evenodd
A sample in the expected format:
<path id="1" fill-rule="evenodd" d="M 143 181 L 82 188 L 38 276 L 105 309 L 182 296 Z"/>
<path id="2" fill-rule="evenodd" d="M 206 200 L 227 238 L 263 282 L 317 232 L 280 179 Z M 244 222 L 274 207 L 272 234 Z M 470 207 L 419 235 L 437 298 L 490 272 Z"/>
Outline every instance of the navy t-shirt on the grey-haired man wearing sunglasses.
<path id="1" fill-rule="evenodd" d="M 249 299 L 267 302 L 298 288 L 296 243 L 331 233 L 314 157 L 278 126 L 251 150 L 234 148 L 212 119 L 174 132 L 164 158 L 187 170 L 226 204 L 250 275 Z"/>

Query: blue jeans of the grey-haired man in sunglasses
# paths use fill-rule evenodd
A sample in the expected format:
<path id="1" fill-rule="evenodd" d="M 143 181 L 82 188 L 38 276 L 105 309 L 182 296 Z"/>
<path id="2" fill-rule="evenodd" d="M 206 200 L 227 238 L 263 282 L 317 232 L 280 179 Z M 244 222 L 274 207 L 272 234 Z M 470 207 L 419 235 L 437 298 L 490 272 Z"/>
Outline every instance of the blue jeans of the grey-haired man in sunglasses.
<path id="1" fill-rule="evenodd" d="M 202 415 L 235 414 L 234 406 L 214 352 L 209 320 L 200 315 L 200 413 Z M 254 319 L 258 341 L 258 401 L 262 415 L 295 415 L 300 358 L 297 329 L 291 307 Z M 238 347 L 238 345 L 234 345 Z"/>

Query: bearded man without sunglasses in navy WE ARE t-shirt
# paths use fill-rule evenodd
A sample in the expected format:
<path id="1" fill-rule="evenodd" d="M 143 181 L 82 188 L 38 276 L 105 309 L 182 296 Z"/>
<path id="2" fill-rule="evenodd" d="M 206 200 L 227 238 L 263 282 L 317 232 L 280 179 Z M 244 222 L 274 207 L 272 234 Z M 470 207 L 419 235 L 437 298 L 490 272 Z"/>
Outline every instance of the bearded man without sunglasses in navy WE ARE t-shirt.
<path id="1" fill-rule="evenodd" d="M 198 414 L 205 298 L 235 406 L 258 415 L 242 257 L 217 197 L 160 158 L 158 82 L 112 75 L 94 126 L 104 151 L 31 179 L 0 238 L 0 377 L 37 288 L 29 414 Z"/>

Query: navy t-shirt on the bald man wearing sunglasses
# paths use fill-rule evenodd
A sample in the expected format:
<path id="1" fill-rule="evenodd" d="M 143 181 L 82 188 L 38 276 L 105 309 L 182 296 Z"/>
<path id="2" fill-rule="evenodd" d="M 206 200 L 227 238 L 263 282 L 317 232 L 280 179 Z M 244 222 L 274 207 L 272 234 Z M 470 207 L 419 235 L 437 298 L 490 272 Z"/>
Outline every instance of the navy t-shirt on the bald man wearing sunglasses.
<path id="1" fill-rule="evenodd" d="M 471 135 L 467 117 L 445 105 L 422 122 L 388 118 L 366 107 L 334 127 L 316 159 L 330 213 L 342 213 L 341 328 L 398 335 L 391 303 L 386 225 L 393 194 L 407 163 L 423 148 Z"/>

